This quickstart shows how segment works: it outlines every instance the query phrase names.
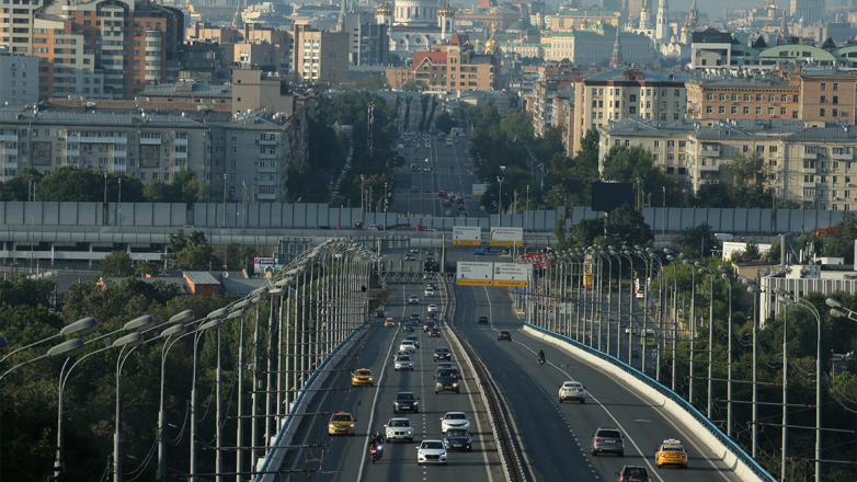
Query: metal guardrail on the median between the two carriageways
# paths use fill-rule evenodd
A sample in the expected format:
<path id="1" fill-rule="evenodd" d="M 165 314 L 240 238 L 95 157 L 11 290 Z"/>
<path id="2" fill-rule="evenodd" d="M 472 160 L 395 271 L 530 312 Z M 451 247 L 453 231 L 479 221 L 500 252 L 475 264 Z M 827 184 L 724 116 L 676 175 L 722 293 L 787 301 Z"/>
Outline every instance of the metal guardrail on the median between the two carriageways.
<path id="1" fill-rule="evenodd" d="M 465 356 L 468 358 L 468 363 L 473 369 L 476 381 L 479 386 L 479 391 L 482 394 L 482 400 L 488 409 L 488 418 L 491 422 L 491 427 L 494 433 L 494 438 L 498 444 L 498 451 L 500 452 L 500 461 L 503 464 L 503 471 L 506 475 L 507 482 L 526 482 L 527 478 L 524 474 L 524 467 L 521 463 L 521 455 L 514 444 L 512 437 L 512 431 L 510 424 L 506 421 L 507 408 L 498 395 L 500 389 L 496 387 L 491 375 L 485 369 L 485 366 L 477 356 L 476 351 L 470 344 L 461 336 L 458 329 L 455 328 L 453 318 L 455 314 L 455 296 L 453 289 L 449 287 L 449 277 L 441 276 L 443 280 L 444 290 L 447 291 L 447 298 L 449 302 L 446 303 L 444 311 L 444 320 L 446 321 L 449 331 L 456 338 Z"/>

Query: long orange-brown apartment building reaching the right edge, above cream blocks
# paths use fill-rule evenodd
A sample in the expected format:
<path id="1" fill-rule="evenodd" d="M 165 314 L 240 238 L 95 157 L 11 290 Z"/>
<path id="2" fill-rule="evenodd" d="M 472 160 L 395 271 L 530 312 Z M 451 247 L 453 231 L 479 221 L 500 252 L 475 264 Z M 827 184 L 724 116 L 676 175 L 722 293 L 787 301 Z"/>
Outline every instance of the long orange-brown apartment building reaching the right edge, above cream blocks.
<path id="1" fill-rule="evenodd" d="M 854 123 L 857 78 L 820 70 L 707 73 L 687 81 L 687 117 Z"/>

